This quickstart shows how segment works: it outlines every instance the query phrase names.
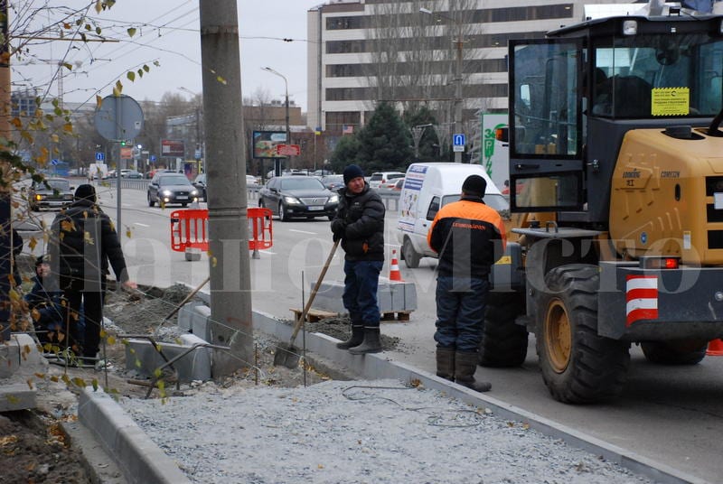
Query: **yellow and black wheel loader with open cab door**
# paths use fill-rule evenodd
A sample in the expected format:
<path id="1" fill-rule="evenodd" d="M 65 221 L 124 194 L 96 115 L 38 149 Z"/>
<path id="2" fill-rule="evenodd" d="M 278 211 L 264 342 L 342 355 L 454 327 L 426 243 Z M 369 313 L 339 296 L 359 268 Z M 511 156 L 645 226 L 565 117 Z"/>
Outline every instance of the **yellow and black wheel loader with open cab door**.
<path id="1" fill-rule="evenodd" d="M 723 16 L 670 5 L 510 42 L 517 240 L 480 364 L 532 332 L 560 402 L 618 396 L 633 344 L 693 365 L 723 336 Z"/>

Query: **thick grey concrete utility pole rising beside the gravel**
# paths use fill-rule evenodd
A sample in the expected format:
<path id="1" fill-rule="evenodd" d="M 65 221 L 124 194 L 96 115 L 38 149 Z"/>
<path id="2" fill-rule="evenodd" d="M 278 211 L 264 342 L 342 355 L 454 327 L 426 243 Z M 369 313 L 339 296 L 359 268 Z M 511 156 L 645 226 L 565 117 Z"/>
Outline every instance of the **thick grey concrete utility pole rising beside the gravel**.
<path id="1" fill-rule="evenodd" d="M 241 113 L 236 0 L 200 2 L 203 131 L 209 205 L 211 374 L 230 375 L 253 361 L 246 143 Z"/>

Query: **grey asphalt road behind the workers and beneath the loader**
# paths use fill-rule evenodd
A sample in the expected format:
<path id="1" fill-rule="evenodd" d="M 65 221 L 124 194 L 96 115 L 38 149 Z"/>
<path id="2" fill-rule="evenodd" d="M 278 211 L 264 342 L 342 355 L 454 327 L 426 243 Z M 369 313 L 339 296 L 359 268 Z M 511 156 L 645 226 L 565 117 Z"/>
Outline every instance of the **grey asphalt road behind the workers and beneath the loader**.
<path id="1" fill-rule="evenodd" d="M 100 189 L 101 203 L 115 219 L 115 189 Z M 249 200 L 255 207 L 256 200 Z M 201 204 L 205 207 L 205 204 Z M 208 257 L 188 262 L 169 249 L 170 213 L 178 208 L 149 208 L 144 191 L 124 190 L 122 197 L 124 250 L 131 277 L 139 283 L 164 286 L 183 282 L 195 286 L 208 275 Z M 42 217 L 52 219 L 53 213 Z M 396 246 L 396 214 L 387 215 L 387 241 Z M 127 233 L 127 234 L 126 234 Z M 127 237 L 129 235 L 130 237 Z M 41 246 L 42 247 L 42 246 Z M 255 310 L 291 317 L 290 308 L 302 306 L 305 295 L 332 247 L 326 219 L 279 222 L 274 220 L 274 246 L 251 260 L 252 302 Z M 42 250 L 36 247 L 35 252 Z M 343 253 L 337 254 L 326 277 L 343 279 Z M 402 345 L 388 352 L 417 368 L 435 371 L 434 267 L 422 259 L 418 269 L 400 264 L 402 277 L 417 286 L 418 310 L 407 323 L 390 322 L 382 331 L 399 336 Z M 385 265 L 384 271 L 389 266 Z M 540 414 L 579 432 L 635 451 L 653 461 L 695 476 L 701 481 L 723 479 L 723 358 L 708 357 L 693 367 L 662 367 L 645 361 L 637 347 L 623 395 L 607 404 L 563 405 L 552 400 L 540 377 L 533 337 L 521 368 L 478 368 L 476 377 L 492 382 L 490 394 L 510 405 Z M 484 451 L 480 449 L 480 451 Z"/>

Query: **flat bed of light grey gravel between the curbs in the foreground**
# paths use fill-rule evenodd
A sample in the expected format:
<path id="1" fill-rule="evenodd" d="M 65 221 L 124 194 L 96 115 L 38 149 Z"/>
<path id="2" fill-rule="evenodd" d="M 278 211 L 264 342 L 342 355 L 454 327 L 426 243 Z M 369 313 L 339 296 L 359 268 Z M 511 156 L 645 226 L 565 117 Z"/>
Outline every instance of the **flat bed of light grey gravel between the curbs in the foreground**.
<path id="1" fill-rule="evenodd" d="M 397 381 L 121 400 L 193 482 L 647 483 L 521 423 Z"/>

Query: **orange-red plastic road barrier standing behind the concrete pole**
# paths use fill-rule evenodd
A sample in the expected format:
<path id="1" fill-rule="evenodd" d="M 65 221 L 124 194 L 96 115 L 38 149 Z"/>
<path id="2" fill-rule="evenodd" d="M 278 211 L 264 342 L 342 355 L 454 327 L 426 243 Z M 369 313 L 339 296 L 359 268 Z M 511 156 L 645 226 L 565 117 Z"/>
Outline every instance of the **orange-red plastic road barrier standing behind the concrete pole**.
<path id="1" fill-rule="evenodd" d="M 268 248 L 273 245 L 271 210 L 248 209 L 249 250 Z M 209 210 L 184 209 L 171 213 L 171 248 L 185 252 L 187 248 L 209 249 Z"/>

